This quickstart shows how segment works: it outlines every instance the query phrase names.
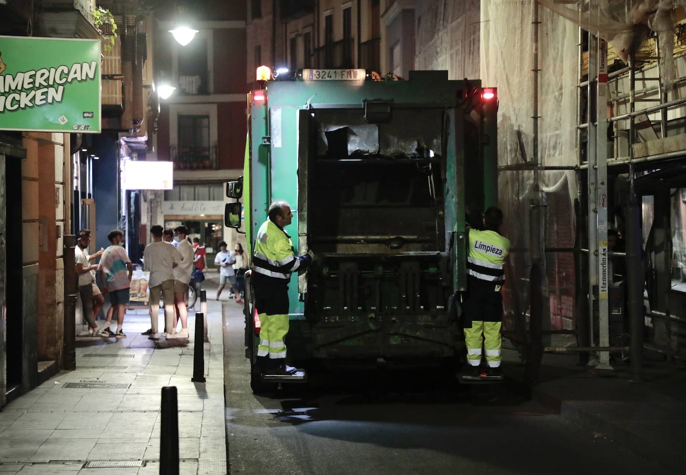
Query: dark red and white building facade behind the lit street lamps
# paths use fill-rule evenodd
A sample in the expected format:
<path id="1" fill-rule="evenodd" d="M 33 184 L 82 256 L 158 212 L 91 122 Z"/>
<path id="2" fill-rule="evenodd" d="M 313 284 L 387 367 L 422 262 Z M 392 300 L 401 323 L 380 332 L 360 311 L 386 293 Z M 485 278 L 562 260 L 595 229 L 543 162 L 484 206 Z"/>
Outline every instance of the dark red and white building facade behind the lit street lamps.
<path id="1" fill-rule="evenodd" d="M 156 15 L 156 84 L 176 89 L 160 101 L 147 159 L 173 162 L 174 187 L 147 192 L 139 239 L 149 240 L 145 230 L 155 224 L 187 226 L 212 266 L 217 243 L 239 239 L 224 227 L 224 203 L 226 181 L 242 174 L 246 143 L 246 12 L 241 2 L 201 3 L 182 14 L 198 30 L 185 46 L 169 33 L 180 24 L 174 13 Z"/>

